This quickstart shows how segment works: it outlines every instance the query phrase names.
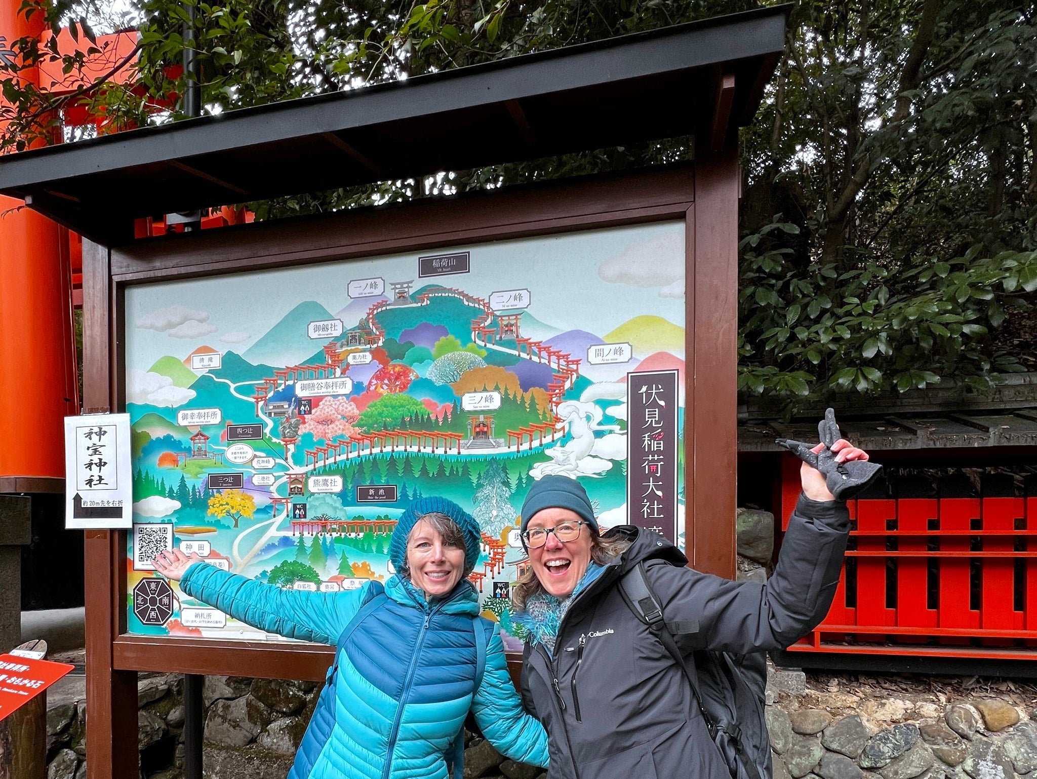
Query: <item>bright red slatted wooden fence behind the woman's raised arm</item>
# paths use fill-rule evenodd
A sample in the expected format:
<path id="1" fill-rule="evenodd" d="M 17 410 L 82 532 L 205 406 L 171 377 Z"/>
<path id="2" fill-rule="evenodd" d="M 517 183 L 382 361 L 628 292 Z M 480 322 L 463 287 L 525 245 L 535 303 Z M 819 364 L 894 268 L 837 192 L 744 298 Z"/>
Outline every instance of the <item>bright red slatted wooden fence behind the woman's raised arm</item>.
<path id="1" fill-rule="evenodd" d="M 783 455 L 784 518 L 798 496 L 798 470 Z M 1037 495 L 860 499 L 849 508 L 835 601 L 790 652 L 1033 657 Z"/>

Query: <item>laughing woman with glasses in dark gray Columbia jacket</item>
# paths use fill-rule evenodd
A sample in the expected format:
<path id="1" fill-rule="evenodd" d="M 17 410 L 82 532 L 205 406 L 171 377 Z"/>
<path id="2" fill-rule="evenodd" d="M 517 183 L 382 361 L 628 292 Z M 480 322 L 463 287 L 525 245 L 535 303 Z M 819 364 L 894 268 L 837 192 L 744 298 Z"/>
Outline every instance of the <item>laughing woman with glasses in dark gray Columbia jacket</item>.
<path id="1" fill-rule="evenodd" d="M 845 472 L 844 464 L 868 460 L 836 438 L 796 451 L 813 465 L 803 465 L 803 494 L 765 584 L 693 571 L 669 541 L 633 526 L 598 535 L 573 479 L 546 476 L 530 489 L 521 529 L 532 569 L 514 600 L 516 621 L 530 633 L 523 697 L 548 731 L 549 779 L 730 779 L 683 670 L 618 583 L 645 563 L 666 621 L 683 625 L 685 652 L 746 655 L 793 643 L 828 612 L 849 530 L 845 501 L 814 466 L 820 457 L 834 470 L 826 457 Z"/>

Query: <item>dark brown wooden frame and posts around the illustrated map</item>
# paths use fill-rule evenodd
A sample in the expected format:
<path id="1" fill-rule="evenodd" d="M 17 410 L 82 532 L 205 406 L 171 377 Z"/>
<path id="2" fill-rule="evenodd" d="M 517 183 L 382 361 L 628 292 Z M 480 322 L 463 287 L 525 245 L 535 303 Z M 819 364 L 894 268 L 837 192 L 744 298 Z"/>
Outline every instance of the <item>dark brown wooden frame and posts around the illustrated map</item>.
<path id="1" fill-rule="evenodd" d="M 685 538 L 699 571 L 735 562 L 737 224 L 734 143 L 694 165 L 284 220 L 108 248 L 83 242 L 84 413 L 124 399 L 128 285 L 683 219 Z M 89 779 L 137 769 L 137 673 L 324 678 L 333 647 L 125 634 L 125 531 L 86 531 Z M 513 660 L 513 659 L 512 659 Z"/>

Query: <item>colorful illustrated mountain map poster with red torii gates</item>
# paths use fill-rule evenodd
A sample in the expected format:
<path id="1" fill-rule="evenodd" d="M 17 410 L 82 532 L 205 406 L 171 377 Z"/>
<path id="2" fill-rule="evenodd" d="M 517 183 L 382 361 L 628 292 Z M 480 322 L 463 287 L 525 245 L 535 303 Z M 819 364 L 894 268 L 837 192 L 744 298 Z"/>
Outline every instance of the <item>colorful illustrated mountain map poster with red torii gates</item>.
<path id="1" fill-rule="evenodd" d="M 164 549 L 325 592 L 393 575 L 417 497 L 479 522 L 483 614 L 530 485 L 683 546 L 684 226 L 662 222 L 131 286 L 130 633 L 267 638 L 159 576 Z"/>

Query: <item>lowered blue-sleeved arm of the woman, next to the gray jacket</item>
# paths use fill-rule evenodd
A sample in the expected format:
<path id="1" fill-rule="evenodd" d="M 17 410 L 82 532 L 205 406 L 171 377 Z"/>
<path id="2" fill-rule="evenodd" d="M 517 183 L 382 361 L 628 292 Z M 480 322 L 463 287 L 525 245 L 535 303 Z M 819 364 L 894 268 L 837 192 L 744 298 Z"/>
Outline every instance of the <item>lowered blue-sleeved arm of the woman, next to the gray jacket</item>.
<path id="1" fill-rule="evenodd" d="M 508 674 L 504 643 L 496 630 L 486 647 L 486 672 L 475 691 L 472 714 L 498 752 L 515 762 L 548 768 L 548 734 L 543 725 L 523 708 Z"/>

